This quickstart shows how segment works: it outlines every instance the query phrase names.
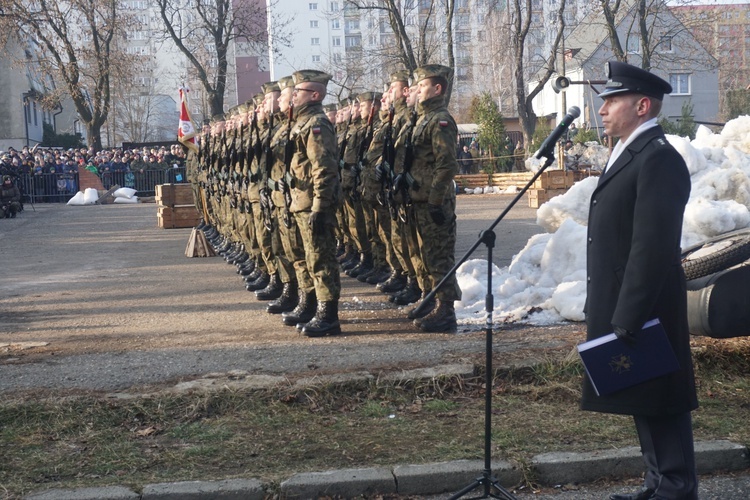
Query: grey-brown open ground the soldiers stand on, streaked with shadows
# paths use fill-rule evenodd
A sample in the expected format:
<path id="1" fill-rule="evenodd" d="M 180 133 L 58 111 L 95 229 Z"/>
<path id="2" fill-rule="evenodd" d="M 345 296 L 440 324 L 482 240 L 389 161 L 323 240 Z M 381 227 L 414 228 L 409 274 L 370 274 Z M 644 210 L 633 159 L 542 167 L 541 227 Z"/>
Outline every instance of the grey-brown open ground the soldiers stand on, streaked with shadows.
<path id="1" fill-rule="evenodd" d="M 512 200 L 458 202 L 458 258 Z M 542 229 L 526 199 L 496 227 L 498 265 Z M 308 339 L 265 312 L 220 257 L 187 258 L 190 229 L 159 229 L 156 206 L 45 204 L 0 221 L 0 391 L 136 391 L 211 372 L 290 378 L 482 364 L 485 333 L 424 334 L 373 286 L 342 275 L 344 334 Z M 483 246 L 472 258 L 486 258 Z M 483 316 L 484 311 L 477 311 Z M 570 352 L 581 324 L 504 325 L 495 365 Z"/>

